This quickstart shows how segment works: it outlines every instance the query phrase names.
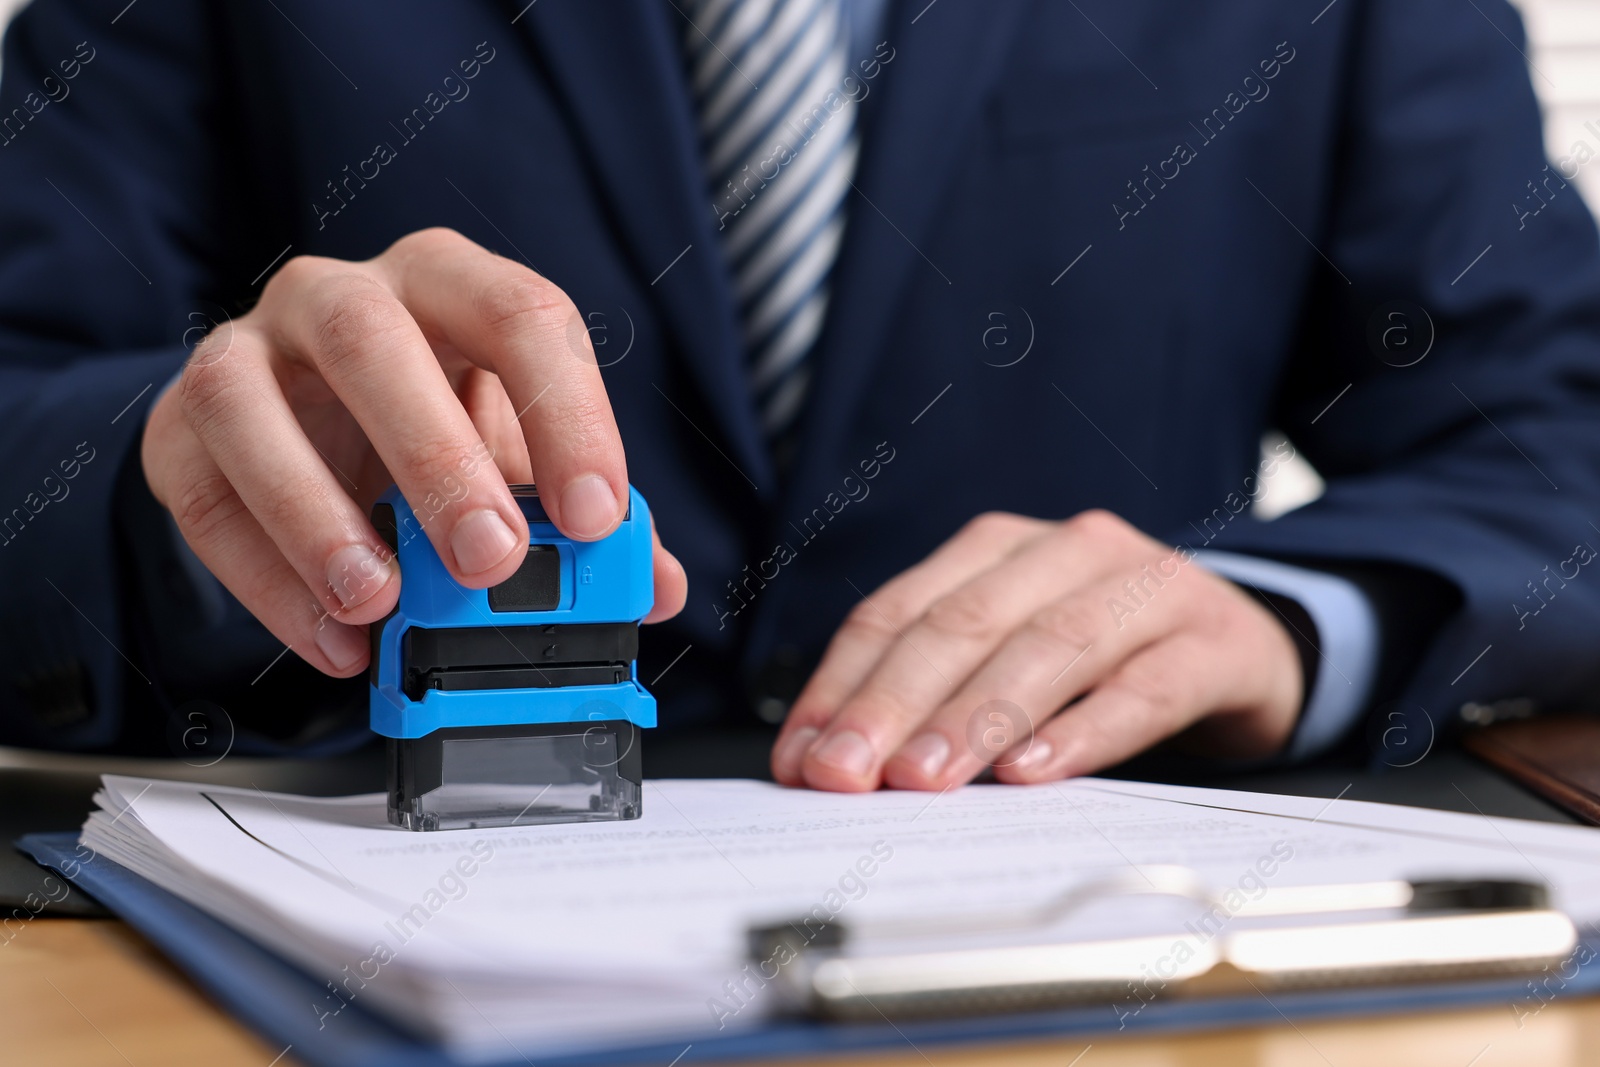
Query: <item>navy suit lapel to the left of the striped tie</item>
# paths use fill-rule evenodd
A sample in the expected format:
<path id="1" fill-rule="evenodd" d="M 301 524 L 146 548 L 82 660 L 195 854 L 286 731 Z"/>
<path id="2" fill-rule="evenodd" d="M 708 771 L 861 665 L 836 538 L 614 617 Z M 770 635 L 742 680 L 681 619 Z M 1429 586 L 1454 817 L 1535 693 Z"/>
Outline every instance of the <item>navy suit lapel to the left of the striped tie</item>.
<path id="1" fill-rule="evenodd" d="M 518 24 L 573 114 L 618 229 L 640 277 L 653 278 L 650 293 L 717 419 L 715 429 L 739 467 L 766 486 L 766 496 L 774 488 L 771 459 L 746 384 L 733 294 L 710 226 L 710 195 L 677 46 L 682 26 L 670 22 L 675 18 L 662 0 L 539 0 Z M 666 382 L 658 387 L 666 390 Z M 682 405 L 683 398 L 672 402 Z"/>

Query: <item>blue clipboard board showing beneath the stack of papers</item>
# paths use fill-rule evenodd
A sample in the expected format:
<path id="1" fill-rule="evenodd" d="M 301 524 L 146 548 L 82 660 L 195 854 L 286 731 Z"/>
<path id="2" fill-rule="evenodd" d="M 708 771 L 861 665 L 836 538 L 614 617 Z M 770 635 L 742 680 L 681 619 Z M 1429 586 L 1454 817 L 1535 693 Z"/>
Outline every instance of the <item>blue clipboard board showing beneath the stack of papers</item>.
<path id="1" fill-rule="evenodd" d="M 326 1021 L 318 1019 L 326 985 L 200 909 L 141 878 L 104 856 L 85 862 L 75 833 L 30 833 L 16 846 L 45 867 L 75 870 L 70 883 L 98 899 L 138 929 L 219 1006 L 261 1033 L 267 1043 L 291 1046 L 293 1056 L 314 1067 L 467 1067 L 445 1049 L 406 1033 L 382 1016 L 349 1003 Z M 62 877 L 66 873 L 62 872 Z M 1589 931 L 1574 953 L 1600 960 L 1600 936 Z M 1578 966 L 1558 981 L 1541 984 L 1544 1000 L 1600 992 L 1600 966 Z M 1531 1000 L 1530 979 L 1488 979 L 1448 985 L 1384 985 L 1314 990 L 1216 1000 L 1157 1000 L 1122 1022 L 1123 1033 L 1210 1030 L 1280 1024 L 1341 1016 L 1405 1014 L 1469 1005 L 1514 1005 Z M 1040 1038 L 1104 1037 L 1118 1032 L 1112 1005 L 1013 1016 L 981 1016 L 923 1022 L 842 1025 L 781 1021 L 758 1030 L 718 1035 L 672 1045 L 635 1045 L 582 1054 L 547 1056 L 538 1048 L 512 1048 L 501 1061 L 477 1061 L 475 1067 L 622 1067 L 677 1062 L 709 1064 L 773 1057 L 826 1056 L 862 1051 L 1022 1041 Z M 686 1048 L 685 1048 L 686 1046 Z"/>

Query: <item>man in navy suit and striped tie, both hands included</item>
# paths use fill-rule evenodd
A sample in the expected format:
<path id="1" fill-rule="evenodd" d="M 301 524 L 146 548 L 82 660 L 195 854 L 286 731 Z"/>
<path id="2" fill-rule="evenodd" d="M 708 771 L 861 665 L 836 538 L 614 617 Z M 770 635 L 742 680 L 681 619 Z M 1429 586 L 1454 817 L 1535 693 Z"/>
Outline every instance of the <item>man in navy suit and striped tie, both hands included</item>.
<path id="1" fill-rule="evenodd" d="M 640 677 L 782 720 L 789 784 L 1578 705 L 1592 150 L 1520 48 L 1499 0 L 37 0 L 3 739 L 349 745 L 373 498 L 488 585 L 530 478 L 574 537 L 643 491 Z M 1294 450 L 1326 494 L 1256 520 Z"/>

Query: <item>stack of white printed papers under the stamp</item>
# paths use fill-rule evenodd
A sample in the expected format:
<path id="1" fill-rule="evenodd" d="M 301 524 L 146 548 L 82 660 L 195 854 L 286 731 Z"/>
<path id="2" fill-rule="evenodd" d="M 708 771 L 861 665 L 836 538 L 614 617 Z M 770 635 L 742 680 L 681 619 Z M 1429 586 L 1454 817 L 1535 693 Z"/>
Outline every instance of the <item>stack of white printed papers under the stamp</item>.
<path id="1" fill-rule="evenodd" d="M 1600 923 L 1600 830 L 1389 805 L 1078 779 L 944 793 L 650 781 L 634 822 L 413 833 L 379 793 L 306 798 L 106 776 L 83 829 L 123 864 L 360 1005 L 472 1057 L 728 1033 L 770 1017 L 752 925 L 931 931 L 1075 886 L 1190 870 L 1224 917 L 1275 889 L 1542 881 Z M 1218 909 L 1110 896 L 995 942 L 1179 933 Z M 1003 926 L 1003 925 L 1002 925 Z M 1192 926 L 1190 926 L 1192 928 Z"/>

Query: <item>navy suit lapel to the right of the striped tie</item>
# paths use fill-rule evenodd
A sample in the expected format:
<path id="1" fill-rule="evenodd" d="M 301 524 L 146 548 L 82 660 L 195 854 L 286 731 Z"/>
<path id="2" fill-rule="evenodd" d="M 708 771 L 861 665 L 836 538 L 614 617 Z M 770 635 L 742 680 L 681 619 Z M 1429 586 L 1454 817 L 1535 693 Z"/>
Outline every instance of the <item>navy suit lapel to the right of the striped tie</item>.
<path id="1" fill-rule="evenodd" d="M 918 248 L 1024 6 L 1024 0 L 894 3 L 883 32 L 894 56 L 880 74 L 877 98 L 862 104 L 862 155 L 786 512 L 810 510 L 829 486 L 837 488 L 838 446 L 915 274 L 952 291 L 962 285 L 960 264 L 934 267 Z"/>

